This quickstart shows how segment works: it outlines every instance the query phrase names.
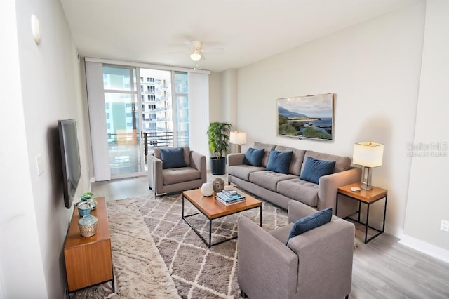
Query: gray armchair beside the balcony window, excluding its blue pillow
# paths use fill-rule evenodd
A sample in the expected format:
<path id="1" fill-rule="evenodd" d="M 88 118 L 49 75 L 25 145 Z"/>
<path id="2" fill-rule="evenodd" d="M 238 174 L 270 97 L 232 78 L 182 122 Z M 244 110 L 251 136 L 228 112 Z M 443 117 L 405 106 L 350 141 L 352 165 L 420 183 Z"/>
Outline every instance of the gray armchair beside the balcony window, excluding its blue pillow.
<path id="1" fill-rule="evenodd" d="M 161 150 L 148 159 L 148 186 L 156 197 L 201 187 L 206 182 L 206 156 L 183 147 L 186 167 L 163 169 Z"/>

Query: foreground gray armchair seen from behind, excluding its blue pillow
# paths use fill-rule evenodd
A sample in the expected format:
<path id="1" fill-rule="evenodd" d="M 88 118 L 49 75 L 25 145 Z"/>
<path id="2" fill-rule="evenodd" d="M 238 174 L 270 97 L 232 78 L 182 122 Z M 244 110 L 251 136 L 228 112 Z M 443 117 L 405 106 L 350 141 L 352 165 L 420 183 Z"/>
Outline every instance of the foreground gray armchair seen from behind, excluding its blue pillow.
<path id="1" fill-rule="evenodd" d="M 238 275 L 243 297 L 343 298 L 352 284 L 354 224 L 333 216 L 325 225 L 288 241 L 295 220 L 316 213 L 297 201 L 288 204 L 289 225 L 265 232 L 239 219 Z"/>

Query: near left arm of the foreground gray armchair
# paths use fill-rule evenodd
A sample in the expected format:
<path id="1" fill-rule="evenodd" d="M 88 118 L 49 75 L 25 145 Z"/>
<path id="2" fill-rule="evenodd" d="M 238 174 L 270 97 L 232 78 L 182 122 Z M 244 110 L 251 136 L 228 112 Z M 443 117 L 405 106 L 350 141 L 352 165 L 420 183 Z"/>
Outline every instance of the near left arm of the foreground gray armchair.
<path id="1" fill-rule="evenodd" d="M 249 298 L 291 298 L 297 281 L 297 255 L 246 217 L 239 219 L 239 286 Z"/>

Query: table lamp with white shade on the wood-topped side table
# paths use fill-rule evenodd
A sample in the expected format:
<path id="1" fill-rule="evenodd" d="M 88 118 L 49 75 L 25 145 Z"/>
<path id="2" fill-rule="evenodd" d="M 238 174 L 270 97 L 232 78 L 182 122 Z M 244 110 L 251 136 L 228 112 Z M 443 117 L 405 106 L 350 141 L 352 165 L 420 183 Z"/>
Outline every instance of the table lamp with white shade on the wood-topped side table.
<path id="1" fill-rule="evenodd" d="M 375 142 L 358 142 L 354 145 L 352 163 L 362 166 L 362 178 L 360 188 L 371 190 L 371 174 L 373 167 L 382 166 L 384 145 Z"/>

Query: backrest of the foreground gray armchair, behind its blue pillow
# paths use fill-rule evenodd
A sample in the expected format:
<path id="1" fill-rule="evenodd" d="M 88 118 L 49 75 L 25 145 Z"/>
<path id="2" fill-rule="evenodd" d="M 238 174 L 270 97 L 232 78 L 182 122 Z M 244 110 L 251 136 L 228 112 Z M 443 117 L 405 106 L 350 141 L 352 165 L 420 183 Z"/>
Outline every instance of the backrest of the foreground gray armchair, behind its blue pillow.
<path id="1" fill-rule="evenodd" d="M 354 233 L 353 223 L 333 218 L 288 241 L 299 258 L 302 298 L 343 298 L 351 292 Z"/>

